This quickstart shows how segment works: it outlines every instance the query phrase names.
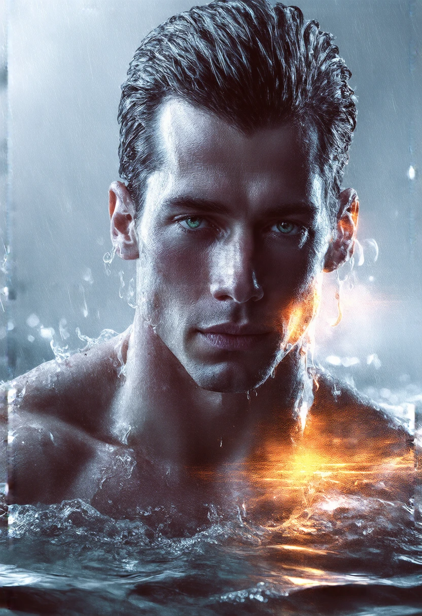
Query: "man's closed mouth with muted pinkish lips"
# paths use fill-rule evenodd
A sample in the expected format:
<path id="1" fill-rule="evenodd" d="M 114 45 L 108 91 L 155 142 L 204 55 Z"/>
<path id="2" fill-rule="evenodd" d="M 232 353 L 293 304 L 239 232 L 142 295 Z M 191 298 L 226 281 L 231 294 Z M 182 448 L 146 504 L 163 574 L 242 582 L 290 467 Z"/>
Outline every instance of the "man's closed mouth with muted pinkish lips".
<path id="1" fill-rule="evenodd" d="M 264 328 L 236 323 L 221 323 L 199 329 L 199 334 L 207 344 L 222 351 L 247 351 L 253 349 L 271 332 Z"/>

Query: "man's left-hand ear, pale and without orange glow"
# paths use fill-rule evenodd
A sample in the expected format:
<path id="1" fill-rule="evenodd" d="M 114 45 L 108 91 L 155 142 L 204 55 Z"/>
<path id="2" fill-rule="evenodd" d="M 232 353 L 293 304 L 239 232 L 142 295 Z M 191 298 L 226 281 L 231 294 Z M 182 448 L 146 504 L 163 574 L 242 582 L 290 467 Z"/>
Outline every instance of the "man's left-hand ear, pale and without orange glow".
<path id="1" fill-rule="evenodd" d="M 128 189 L 122 182 L 113 182 L 109 188 L 109 213 L 111 238 L 118 256 L 122 259 L 138 259 L 136 237 L 136 207 Z"/>

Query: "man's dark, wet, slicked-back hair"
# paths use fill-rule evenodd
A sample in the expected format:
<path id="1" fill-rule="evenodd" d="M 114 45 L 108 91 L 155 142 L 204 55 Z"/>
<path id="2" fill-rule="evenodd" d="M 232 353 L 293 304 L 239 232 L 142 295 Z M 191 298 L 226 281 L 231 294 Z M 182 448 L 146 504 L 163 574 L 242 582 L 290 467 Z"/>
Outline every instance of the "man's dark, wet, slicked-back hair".
<path id="1" fill-rule="evenodd" d="M 180 97 L 250 133 L 292 120 L 313 126 L 327 197 L 337 196 L 356 126 L 352 73 L 333 36 L 297 7 L 217 0 L 170 17 L 143 39 L 122 85 L 120 176 L 138 208 L 159 162 L 160 103 Z"/>

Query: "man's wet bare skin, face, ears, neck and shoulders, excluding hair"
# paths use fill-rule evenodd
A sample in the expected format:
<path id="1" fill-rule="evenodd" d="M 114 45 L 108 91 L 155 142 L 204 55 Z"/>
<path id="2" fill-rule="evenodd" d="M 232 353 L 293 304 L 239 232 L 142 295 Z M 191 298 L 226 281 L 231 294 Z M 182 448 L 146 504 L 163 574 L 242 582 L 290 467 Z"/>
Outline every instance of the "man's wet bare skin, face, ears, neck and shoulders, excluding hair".
<path id="1" fill-rule="evenodd" d="M 275 451 L 407 455 L 381 411 L 324 376 L 316 391 L 305 370 L 321 272 L 351 256 L 357 224 L 352 190 L 329 215 L 312 127 L 246 135 L 172 99 L 157 146 L 140 213 L 110 187 L 114 246 L 138 259 L 133 328 L 14 383 L 10 500 L 116 516 L 173 503 L 200 519 L 205 502 L 262 496 L 250 477 Z"/>

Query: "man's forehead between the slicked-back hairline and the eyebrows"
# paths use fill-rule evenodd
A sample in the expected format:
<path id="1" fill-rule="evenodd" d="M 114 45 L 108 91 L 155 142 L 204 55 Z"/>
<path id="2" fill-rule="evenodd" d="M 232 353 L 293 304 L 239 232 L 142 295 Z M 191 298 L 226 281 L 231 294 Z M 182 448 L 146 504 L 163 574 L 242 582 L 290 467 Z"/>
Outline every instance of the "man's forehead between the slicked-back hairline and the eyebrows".
<path id="1" fill-rule="evenodd" d="M 323 200 L 316 133 L 292 122 L 245 134 L 209 111 L 169 99 L 157 116 L 160 192 L 239 201 Z M 318 205 L 318 203 L 315 203 Z"/>

